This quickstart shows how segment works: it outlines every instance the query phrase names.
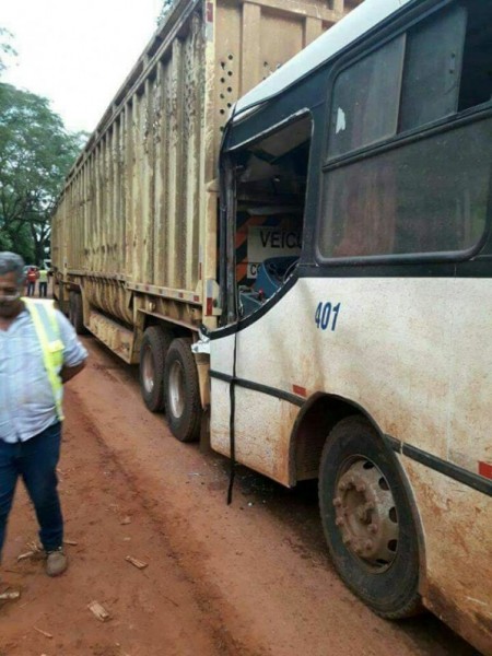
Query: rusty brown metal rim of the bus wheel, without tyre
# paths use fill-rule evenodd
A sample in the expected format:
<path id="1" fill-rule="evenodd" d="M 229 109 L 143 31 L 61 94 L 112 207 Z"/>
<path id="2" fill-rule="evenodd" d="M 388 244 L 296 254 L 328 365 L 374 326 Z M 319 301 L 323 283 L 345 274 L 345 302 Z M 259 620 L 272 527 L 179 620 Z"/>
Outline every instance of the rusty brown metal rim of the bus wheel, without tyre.
<path id="1" fill-rule="evenodd" d="M 387 478 L 372 460 L 343 464 L 333 506 L 347 550 L 374 572 L 388 570 L 398 551 L 398 515 Z"/>

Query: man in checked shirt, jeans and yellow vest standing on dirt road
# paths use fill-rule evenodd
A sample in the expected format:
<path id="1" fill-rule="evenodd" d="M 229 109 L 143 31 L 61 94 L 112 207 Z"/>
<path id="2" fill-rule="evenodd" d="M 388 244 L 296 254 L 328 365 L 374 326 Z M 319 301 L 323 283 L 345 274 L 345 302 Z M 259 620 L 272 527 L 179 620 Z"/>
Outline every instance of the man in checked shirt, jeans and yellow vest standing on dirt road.
<path id="1" fill-rule="evenodd" d="M 51 303 L 21 297 L 23 265 L 17 255 L 0 253 L 0 555 L 21 477 L 36 511 L 46 573 L 57 576 L 68 564 L 56 473 L 62 384 L 84 367 L 87 352 Z"/>

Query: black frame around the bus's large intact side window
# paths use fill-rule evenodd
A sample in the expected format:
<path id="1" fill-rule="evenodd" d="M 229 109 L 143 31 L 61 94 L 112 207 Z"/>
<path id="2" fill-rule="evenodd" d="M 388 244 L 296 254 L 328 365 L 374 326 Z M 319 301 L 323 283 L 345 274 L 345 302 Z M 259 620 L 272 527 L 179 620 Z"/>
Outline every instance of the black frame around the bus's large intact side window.
<path id="1" fill-rule="evenodd" d="M 412 254 L 389 254 L 389 255 L 361 255 L 361 256 L 345 256 L 345 257 L 327 257 L 323 255 L 319 248 L 321 223 L 324 219 L 324 183 L 325 176 L 329 175 L 329 172 L 341 166 L 347 166 L 352 163 L 365 160 L 368 157 L 377 156 L 385 152 L 403 148 L 409 143 L 423 141 L 430 139 L 433 136 L 459 129 L 462 126 L 471 125 L 479 120 L 484 120 L 488 117 L 492 117 L 492 98 L 487 103 L 482 103 L 475 107 L 470 107 L 464 112 L 457 112 L 452 116 L 440 118 L 435 121 L 411 128 L 406 131 L 398 132 L 389 138 L 377 141 L 376 143 L 366 144 L 356 150 L 351 150 L 341 155 L 329 157 L 329 137 L 330 126 L 333 112 L 333 89 L 339 75 L 355 65 L 358 61 L 367 57 L 375 50 L 386 46 L 393 39 L 406 35 L 406 33 L 418 25 L 419 23 L 431 17 L 433 14 L 449 8 L 455 4 L 457 0 L 445 0 L 443 2 L 436 2 L 433 7 L 427 8 L 425 11 L 420 13 L 418 16 L 412 16 L 411 20 L 398 22 L 398 24 L 391 30 L 385 30 L 383 35 L 377 35 L 371 39 L 370 43 L 358 43 L 353 49 L 344 52 L 338 61 L 333 63 L 331 70 L 327 75 L 327 102 L 325 112 L 325 136 L 324 136 L 324 154 L 321 159 L 321 166 L 319 171 L 319 199 L 316 216 L 316 229 L 315 229 L 315 244 L 314 244 L 314 257 L 316 262 L 323 267 L 347 267 L 347 266 L 371 266 L 371 265 L 418 265 L 418 263 L 431 263 L 431 262 L 461 262 L 470 260 L 477 257 L 487 246 L 491 237 L 492 226 L 492 165 L 491 165 L 491 185 L 488 199 L 488 210 L 483 226 L 483 232 L 477 242 L 467 249 L 464 250 L 452 250 L 452 251 L 430 251 L 430 253 L 412 253 Z M 405 67 L 402 68 L 402 74 L 405 73 Z M 401 81 L 400 81 L 401 86 Z M 401 107 L 401 93 L 399 98 L 399 109 Z"/>

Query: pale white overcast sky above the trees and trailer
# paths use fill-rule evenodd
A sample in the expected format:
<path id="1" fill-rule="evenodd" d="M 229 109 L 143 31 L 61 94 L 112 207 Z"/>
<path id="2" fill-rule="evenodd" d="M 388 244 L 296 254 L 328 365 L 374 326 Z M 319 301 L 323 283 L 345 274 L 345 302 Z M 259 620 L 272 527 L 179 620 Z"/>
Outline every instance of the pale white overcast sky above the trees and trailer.
<path id="1" fill-rule="evenodd" d="M 155 31 L 162 0 L 0 0 L 17 57 L 1 81 L 92 132 Z"/>

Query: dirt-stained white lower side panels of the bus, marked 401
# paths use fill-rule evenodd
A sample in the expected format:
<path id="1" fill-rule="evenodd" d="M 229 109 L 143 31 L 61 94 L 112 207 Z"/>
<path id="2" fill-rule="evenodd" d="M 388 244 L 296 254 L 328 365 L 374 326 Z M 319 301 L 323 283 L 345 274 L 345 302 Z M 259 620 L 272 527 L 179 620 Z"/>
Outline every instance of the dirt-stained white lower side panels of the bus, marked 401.
<path id="1" fill-rule="evenodd" d="M 483 450 L 490 435 L 490 403 L 485 402 L 490 394 L 483 390 L 477 397 L 466 379 L 459 385 L 455 380 L 457 366 L 482 373 L 489 366 L 487 340 L 480 341 L 481 351 L 485 349 L 482 355 L 456 343 L 455 290 L 461 283 L 446 278 L 301 278 L 269 312 L 238 332 L 237 376 L 290 394 L 301 388 L 307 398 L 316 393 L 343 397 L 364 408 L 382 433 L 453 464 L 452 418 L 459 418 L 467 406 L 475 406 L 479 417 L 476 422 L 470 419 L 467 440 Z M 487 331 L 485 317 L 492 308 L 484 304 L 484 309 L 477 325 Z M 460 321 L 468 324 L 466 317 Z M 233 339 L 212 341 L 212 368 L 232 373 Z M 226 453 L 229 405 L 219 400 L 214 409 L 216 402 L 212 396 L 212 446 Z M 238 459 L 279 480 L 271 453 L 288 448 L 292 418 L 278 412 L 272 434 L 276 403 L 280 401 L 273 398 L 272 402 L 260 391 L 253 396 L 236 388 Z M 222 435 L 214 437 L 219 424 Z M 471 453 L 477 460 L 477 450 Z M 476 617 L 475 623 L 481 623 L 485 634 L 492 577 L 490 571 L 476 571 L 473 563 L 483 566 L 490 561 L 490 499 L 429 467 L 412 461 L 406 461 L 406 467 L 430 558 L 425 599 L 437 608 L 435 590 L 442 588 L 448 607 Z M 477 464 L 467 469 L 477 473 Z M 447 616 L 446 621 L 452 623 Z"/>

